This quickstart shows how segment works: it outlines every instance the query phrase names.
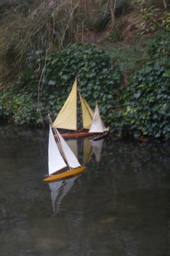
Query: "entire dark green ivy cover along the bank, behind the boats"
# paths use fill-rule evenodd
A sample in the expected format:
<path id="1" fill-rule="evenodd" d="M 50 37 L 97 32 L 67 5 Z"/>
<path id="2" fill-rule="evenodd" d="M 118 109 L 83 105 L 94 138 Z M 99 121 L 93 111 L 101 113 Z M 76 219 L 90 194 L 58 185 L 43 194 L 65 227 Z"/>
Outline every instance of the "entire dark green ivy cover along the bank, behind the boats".
<path id="1" fill-rule="evenodd" d="M 0 93 L 0 117 L 19 125 L 42 125 L 47 113 L 54 120 L 77 73 L 82 96 L 93 109 L 98 100 L 101 117 L 114 135 L 169 139 L 169 54 L 170 33 L 158 35 L 148 47 L 148 62 L 125 88 L 122 65 L 115 66 L 114 54 L 94 45 L 34 52 L 28 55 L 28 69 Z"/>

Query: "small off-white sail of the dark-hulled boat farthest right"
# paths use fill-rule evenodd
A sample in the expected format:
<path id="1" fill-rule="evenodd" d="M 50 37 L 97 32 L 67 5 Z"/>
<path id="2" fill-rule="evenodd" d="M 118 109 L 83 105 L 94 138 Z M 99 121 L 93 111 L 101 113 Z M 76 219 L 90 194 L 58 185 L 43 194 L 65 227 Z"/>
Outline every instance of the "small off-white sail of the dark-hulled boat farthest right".
<path id="1" fill-rule="evenodd" d="M 107 128 L 103 124 L 103 121 L 100 117 L 98 102 L 96 100 L 95 113 L 94 113 L 94 117 L 93 117 L 93 121 L 89 130 L 89 133 L 98 133 L 98 132 L 105 132 L 105 131 L 107 131 Z"/>

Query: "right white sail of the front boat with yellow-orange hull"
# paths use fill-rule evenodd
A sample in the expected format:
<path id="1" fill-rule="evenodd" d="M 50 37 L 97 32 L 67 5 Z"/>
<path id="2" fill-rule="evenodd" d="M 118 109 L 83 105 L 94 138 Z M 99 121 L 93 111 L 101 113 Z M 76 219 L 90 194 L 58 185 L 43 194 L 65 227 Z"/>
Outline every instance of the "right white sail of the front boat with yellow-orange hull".
<path id="1" fill-rule="evenodd" d="M 56 128 L 55 128 L 56 129 Z M 65 157 L 67 158 L 67 161 L 69 163 L 69 166 L 71 168 L 76 168 L 78 166 L 81 166 L 80 163 L 78 162 L 77 158 L 75 157 L 74 153 L 71 151 L 71 149 L 68 147 L 67 143 L 65 140 L 62 138 L 58 130 L 56 129 L 56 132 L 59 136 L 59 140 L 61 142 L 62 148 L 64 150 Z"/>

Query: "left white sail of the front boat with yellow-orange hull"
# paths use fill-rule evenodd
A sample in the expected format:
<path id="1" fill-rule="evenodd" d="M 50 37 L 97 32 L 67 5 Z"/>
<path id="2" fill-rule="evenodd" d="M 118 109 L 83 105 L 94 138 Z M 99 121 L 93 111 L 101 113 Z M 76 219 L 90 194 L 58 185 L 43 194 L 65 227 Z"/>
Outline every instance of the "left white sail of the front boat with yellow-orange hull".
<path id="1" fill-rule="evenodd" d="M 59 171 L 67 167 L 65 164 L 53 136 L 53 132 L 50 126 L 49 132 L 49 174 L 53 174 L 56 171 Z"/>

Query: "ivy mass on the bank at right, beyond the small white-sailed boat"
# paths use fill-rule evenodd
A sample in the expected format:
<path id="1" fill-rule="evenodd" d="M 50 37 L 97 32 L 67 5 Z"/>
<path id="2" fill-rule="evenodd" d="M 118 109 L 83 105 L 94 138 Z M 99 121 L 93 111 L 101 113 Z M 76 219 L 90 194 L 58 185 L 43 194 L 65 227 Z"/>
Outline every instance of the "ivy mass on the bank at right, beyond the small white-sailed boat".
<path id="1" fill-rule="evenodd" d="M 161 40 L 153 42 L 149 48 L 152 61 L 131 77 L 120 97 L 119 107 L 112 108 L 109 113 L 112 128 L 118 136 L 170 138 L 169 49 L 166 54 L 162 51 L 169 39 L 170 36 L 163 34 Z M 151 51 L 153 46 L 154 51 Z"/>

